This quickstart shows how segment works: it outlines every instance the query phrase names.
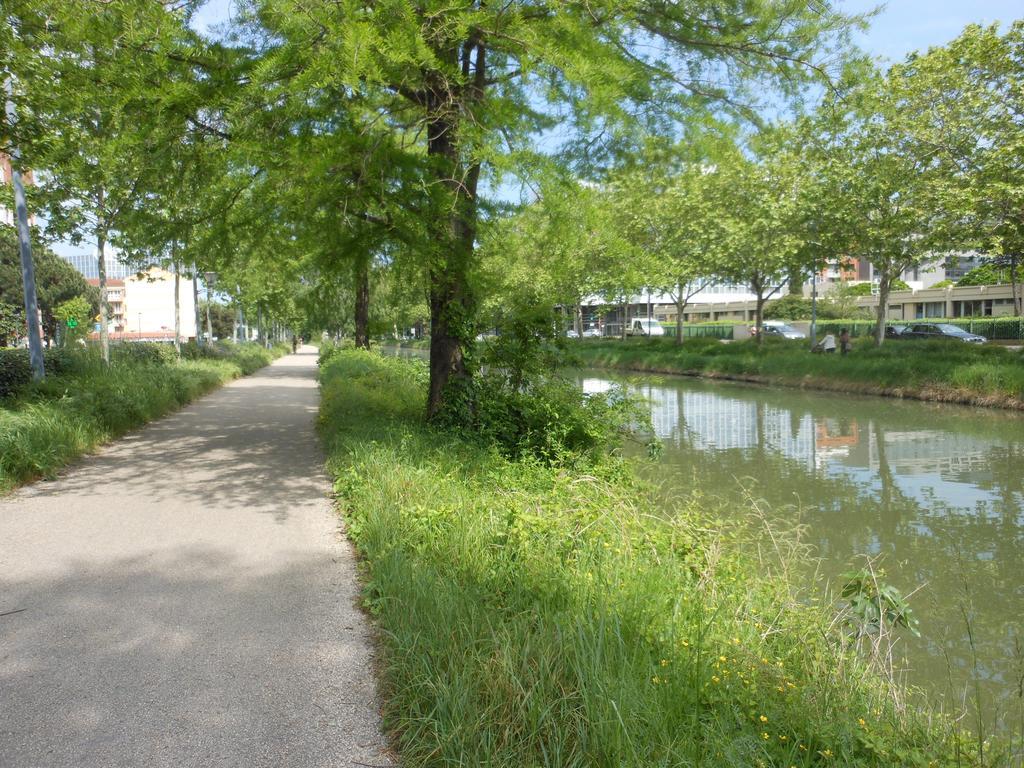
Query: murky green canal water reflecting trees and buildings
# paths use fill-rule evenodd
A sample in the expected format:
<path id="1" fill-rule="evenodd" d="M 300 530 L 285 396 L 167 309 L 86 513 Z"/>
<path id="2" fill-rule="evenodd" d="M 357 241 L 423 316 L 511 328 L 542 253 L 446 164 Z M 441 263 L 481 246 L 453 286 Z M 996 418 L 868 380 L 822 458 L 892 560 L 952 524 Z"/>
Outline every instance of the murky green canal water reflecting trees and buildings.
<path id="1" fill-rule="evenodd" d="M 988 727 L 1020 728 L 1024 417 L 675 376 L 580 383 L 649 400 L 664 454 L 648 471 L 666 494 L 763 500 L 777 525 L 803 526 L 809 584 L 837 589 L 877 558 L 921 620 L 897 646 L 907 680 L 950 706 L 980 691 Z"/>

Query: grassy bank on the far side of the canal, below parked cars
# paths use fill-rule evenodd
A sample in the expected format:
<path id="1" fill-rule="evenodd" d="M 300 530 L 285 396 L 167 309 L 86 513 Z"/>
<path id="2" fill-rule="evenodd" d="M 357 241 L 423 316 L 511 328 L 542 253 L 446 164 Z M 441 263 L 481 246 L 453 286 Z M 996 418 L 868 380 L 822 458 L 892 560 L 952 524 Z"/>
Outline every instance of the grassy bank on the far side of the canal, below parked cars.
<path id="1" fill-rule="evenodd" d="M 722 344 L 690 339 L 583 340 L 571 347 L 588 367 L 683 374 L 944 402 L 1024 409 L 1024 355 L 959 342 L 858 340 L 850 354 L 811 354 L 806 342 Z"/>

